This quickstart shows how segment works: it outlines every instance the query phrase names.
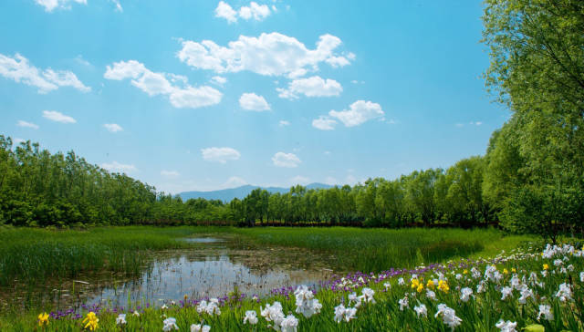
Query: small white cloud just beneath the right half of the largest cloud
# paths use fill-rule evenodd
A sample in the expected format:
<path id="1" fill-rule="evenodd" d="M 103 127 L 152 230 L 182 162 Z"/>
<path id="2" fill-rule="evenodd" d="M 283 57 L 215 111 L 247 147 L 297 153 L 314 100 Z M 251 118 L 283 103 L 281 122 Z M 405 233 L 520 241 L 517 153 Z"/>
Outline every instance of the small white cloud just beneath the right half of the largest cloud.
<path id="1" fill-rule="evenodd" d="M 318 76 L 311 78 L 299 78 L 288 83 L 288 88 L 276 88 L 278 96 L 285 99 L 297 99 L 298 94 L 307 97 L 332 97 L 339 96 L 343 88 L 334 79 L 322 79 Z"/>

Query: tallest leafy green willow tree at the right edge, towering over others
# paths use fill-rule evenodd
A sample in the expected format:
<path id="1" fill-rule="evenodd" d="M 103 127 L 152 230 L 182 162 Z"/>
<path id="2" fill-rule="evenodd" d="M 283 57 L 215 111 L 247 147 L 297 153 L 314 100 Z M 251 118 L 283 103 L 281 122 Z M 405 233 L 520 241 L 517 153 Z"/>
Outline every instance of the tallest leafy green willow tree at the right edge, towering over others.
<path id="1" fill-rule="evenodd" d="M 554 237 L 558 228 L 579 229 L 584 216 L 584 2 L 486 0 L 483 42 L 491 65 L 486 87 L 511 109 L 506 140 L 488 156 L 487 192 L 503 202 L 510 230 Z M 505 129 L 504 129 L 505 130 Z M 499 138 L 498 140 L 501 140 Z M 516 149 L 517 175 L 496 162 Z M 512 178 L 497 190 L 497 178 Z M 488 176 L 491 176 L 489 179 Z M 503 184 L 502 184 L 503 185 Z"/>

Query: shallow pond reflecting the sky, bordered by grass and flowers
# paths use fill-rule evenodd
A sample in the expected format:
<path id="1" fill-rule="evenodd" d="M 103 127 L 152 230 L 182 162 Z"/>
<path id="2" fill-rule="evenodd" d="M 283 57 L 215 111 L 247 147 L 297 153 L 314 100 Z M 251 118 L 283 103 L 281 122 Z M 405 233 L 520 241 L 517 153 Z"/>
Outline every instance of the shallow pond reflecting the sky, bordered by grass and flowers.
<path id="1" fill-rule="evenodd" d="M 47 283 L 42 289 L 29 289 L 26 294 L 9 291 L 7 296 L 16 301 L 36 298 L 37 302 L 61 310 L 99 303 L 162 306 L 172 301 L 178 303 L 184 296 L 191 299 L 226 296 L 235 288 L 247 296 L 265 296 L 282 286 L 318 285 L 334 273 L 341 273 L 327 264 L 330 257 L 326 254 L 307 249 L 251 248 L 216 235 L 182 241 L 196 245 L 188 250 L 154 252 L 137 278 L 110 273 L 82 275 L 75 280 Z"/>

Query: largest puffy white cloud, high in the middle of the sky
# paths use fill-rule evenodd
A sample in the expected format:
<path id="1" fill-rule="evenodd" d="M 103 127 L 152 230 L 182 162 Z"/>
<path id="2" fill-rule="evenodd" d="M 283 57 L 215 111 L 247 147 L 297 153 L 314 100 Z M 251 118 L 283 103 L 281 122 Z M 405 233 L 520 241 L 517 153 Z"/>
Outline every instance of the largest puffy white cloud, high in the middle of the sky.
<path id="1" fill-rule="evenodd" d="M 317 47 L 308 49 L 294 37 L 273 32 L 258 37 L 239 36 L 227 47 L 212 40 L 183 41 L 177 57 L 191 67 L 217 73 L 248 70 L 259 75 L 296 78 L 317 71 L 318 64 L 328 58 L 339 57 L 333 51 L 340 44 L 339 37 L 322 35 Z"/>

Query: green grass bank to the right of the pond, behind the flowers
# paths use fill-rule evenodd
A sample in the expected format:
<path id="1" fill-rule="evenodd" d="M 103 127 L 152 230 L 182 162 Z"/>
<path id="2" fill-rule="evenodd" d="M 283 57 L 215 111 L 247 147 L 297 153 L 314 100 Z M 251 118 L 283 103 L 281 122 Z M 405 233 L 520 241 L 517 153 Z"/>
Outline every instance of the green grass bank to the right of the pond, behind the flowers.
<path id="1" fill-rule="evenodd" d="M 494 256 L 533 241 L 528 235 L 506 235 L 495 229 L 367 229 L 367 228 L 241 228 L 232 232 L 256 245 L 302 247 L 330 254 L 331 265 L 343 271 L 379 272 L 449 259 Z"/>

